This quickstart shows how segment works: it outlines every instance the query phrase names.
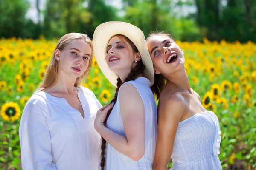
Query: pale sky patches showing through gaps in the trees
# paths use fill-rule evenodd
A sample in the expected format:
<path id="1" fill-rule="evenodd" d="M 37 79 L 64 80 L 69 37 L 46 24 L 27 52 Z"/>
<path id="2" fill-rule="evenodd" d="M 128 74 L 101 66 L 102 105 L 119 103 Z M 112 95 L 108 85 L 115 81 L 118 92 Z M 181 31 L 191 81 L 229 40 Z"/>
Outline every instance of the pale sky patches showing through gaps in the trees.
<path id="1" fill-rule="evenodd" d="M 38 23 L 37 9 L 36 9 L 36 4 L 35 4 L 36 0 L 27 0 L 27 1 L 30 3 L 30 8 L 27 11 L 26 17 L 31 18 L 31 20 L 34 23 Z M 40 5 L 39 5 L 40 10 L 45 9 L 46 1 L 47 0 L 40 0 Z M 172 1 L 175 2 L 177 0 L 172 0 Z M 182 0 L 182 1 L 186 1 L 186 0 Z M 118 9 L 122 8 L 122 0 L 105 0 L 105 3 L 107 5 L 114 6 Z M 86 6 L 86 4 L 84 4 L 84 5 Z M 174 11 L 177 12 L 178 14 L 180 14 L 180 16 L 186 16 L 189 13 L 194 13 L 196 11 L 196 8 L 195 8 L 195 6 L 183 6 L 182 8 L 175 7 Z M 122 11 L 119 12 L 120 16 L 122 16 L 123 14 L 124 13 Z M 43 19 L 44 19 L 43 14 L 41 14 L 40 20 L 42 21 Z"/>

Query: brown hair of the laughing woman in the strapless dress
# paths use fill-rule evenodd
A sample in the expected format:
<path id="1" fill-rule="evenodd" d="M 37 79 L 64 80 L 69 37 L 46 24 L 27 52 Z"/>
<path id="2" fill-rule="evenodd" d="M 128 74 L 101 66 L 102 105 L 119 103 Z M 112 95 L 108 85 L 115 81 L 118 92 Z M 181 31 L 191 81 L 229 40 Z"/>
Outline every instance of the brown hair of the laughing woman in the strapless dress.
<path id="1" fill-rule="evenodd" d="M 159 31 L 152 31 L 147 39 L 146 39 L 146 42 L 149 42 L 151 40 L 152 37 L 154 36 L 163 36 L 163 37 L 168 37 L 170 39 L 173 40 L 171 34 L 168 34 L 166 31 L 162 31 L 162 32 L 159 32 Z M 174 40 L 173 40 L 174 41 Z M 159 99 L 159 96 L 161 94 L 161 92 L 163 91 L 163 88 L 165 87 L 166 85 L 166 78 L 163 77 L 163 74 L 154 74 L 154 84 L 151 86 L 151 91 L 154 93 L 154 96 L 157 97 L 157 100 Z"/>

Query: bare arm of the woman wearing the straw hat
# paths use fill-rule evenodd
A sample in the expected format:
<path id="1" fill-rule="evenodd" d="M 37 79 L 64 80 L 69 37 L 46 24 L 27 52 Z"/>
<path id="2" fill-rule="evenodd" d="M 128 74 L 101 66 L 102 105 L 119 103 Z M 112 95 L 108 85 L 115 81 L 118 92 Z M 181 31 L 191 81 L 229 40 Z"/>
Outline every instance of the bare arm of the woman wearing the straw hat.
<path id="1" fill-rule="evenodd" d="M 125 136 L 114 133 L 103 124 L 96 125 L 96 130 L 117 151 L 138 161 L 145 153 L 144 104 L 130 83 L 120 88 L 119 101 Z"/>

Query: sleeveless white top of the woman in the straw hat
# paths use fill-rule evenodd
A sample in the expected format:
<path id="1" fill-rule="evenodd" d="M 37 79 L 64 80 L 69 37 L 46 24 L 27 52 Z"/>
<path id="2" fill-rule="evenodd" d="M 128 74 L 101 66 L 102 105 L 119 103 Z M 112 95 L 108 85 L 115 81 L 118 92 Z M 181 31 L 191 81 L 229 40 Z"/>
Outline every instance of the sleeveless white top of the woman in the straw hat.
<path id="1" fill-rule="evenodd" d="M 154 160 L 156 139 L 157 139 L 157 106 L 152 91 L 150 81 L 145 77 L 139 77 L 131 83 L 137 88 L 144 103 L 145 109 L 145 154 L 139 161 L 134 161 L 128 156 L 119 153 L 115 148 L 107 143 L 106 148 L 106 170 L 151 170 Z M 121 86 L 122 87 L 122 86 Z M 120 88 L 121 88 L 120 87 Z M 136 106 L 134 106 L 136 107 Z M 108 129 L 125 136 L 125 130 L 120 113 L 119 94 L 116 104 L 107 121 Z M 99 166 L 100 167 L 100 166 Z"/>

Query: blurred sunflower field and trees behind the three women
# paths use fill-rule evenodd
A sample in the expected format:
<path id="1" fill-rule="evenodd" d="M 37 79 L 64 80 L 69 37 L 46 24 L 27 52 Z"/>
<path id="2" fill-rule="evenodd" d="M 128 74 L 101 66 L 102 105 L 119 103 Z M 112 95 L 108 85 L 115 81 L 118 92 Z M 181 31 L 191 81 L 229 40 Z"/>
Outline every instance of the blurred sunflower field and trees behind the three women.
<path id="1" fill-rule="evenodd" d="M 171 33 L 191 88 L 218 116 L 223 169 L 256 170 L 256 0 L 0 0 L 0 170 L 21 169 L 20 116 L 59 38 L 92 38 L 106 21 Z M 82 86 L 102 105 L 115 92 L 95 58 Z"/>

